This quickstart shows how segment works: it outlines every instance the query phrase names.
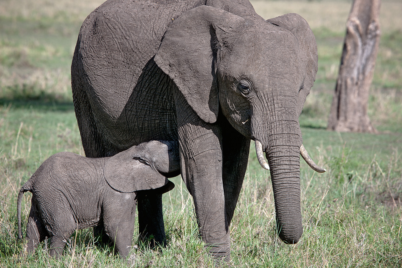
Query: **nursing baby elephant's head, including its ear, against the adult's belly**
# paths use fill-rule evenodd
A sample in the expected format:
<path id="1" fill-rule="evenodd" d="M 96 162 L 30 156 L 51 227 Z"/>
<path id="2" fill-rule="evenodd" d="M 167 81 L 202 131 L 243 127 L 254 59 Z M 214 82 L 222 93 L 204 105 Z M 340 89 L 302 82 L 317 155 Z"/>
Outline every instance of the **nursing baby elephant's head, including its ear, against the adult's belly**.
<path id="1" fill-rule="evenodd" d="M 155 189 L 154 194 L 172 190 L 174 184 L 166 177 L 179 172 L 178 143 L 173 141 L 140 143 L 107 158 L 103 170 L 108 184 L 119 192 Z"/>

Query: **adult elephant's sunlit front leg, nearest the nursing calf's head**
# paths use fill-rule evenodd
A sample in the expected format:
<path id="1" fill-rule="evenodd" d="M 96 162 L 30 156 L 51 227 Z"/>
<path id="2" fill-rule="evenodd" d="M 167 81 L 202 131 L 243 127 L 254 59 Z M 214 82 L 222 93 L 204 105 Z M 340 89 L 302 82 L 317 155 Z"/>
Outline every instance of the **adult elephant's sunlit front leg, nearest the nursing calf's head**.
<path id="1" fill-rule="evenodd" d="M 182 177 L 193 196 L 199 233 L 213 258 L 228 261 L 230 234 L 222 184 L 220 127 L 192 120 L 178 123 Z"/>

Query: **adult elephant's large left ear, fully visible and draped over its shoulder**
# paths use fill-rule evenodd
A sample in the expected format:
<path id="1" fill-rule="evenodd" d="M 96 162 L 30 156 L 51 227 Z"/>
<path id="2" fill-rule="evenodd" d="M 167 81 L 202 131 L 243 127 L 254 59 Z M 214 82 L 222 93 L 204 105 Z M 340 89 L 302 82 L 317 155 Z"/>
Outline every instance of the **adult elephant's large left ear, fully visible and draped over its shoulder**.
<path id="1" fill-rule="evenodd" d="M 198 6 L 175 19 L 164 34 L 155 62 L 174 81 L 197 115 L 214 123 L 219 111 L 214 81 L 226 39 L 244 19 L 210 6 Z"/>

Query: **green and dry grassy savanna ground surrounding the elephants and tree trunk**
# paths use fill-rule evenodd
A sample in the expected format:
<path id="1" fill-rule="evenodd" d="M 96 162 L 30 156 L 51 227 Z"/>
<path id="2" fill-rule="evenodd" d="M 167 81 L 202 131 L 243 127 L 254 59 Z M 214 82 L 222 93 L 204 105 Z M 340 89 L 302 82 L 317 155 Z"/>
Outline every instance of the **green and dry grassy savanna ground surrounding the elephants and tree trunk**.
<path id="1" fill-rule="evenodd" d="M 16 242 L 21 185 L 51 154 L 83 154 L 74 116 L 70 64 L 79 27 L 102 0 L 0 2 L 0 266 L 126 267 L 78 231 L 57 262 L 44 243 L 23 256 Z M 402 266 L 402 5 L 381 4 L 381 43 L 369 115 L 378 134 L 326 131 L 351 1 L 252 1 L 264 18 L 288 12 L 310 23 L 318 43 L 318 74 L 300 116 L 304 145 L 327 172 L 301 161 L 304 234 L 296 245 L 275 235 L 269 172 L 254 150 L 230 232 L 233 267 Z M 168 246 L 139 246 L 133 267 L 211 267 L 197 238 L 192 200 L 180 178 L 164 195 Z M 23 226 L 30 208 L 23 199 Z M 24 228 L 25 229 L 25 228 Z M 24 230 L 23 229 L 23 230 Z M 134 242 L 137 241 L 134 234 Z"/>

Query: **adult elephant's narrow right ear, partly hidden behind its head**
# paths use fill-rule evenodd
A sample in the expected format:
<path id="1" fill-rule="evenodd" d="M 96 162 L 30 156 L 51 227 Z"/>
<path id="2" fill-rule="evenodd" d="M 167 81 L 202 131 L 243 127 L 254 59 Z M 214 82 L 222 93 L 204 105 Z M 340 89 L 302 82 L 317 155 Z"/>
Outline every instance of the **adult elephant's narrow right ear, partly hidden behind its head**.
<path id="1" fill-rule="evenodd" d="M 318 70 L 316 39 L 307 21 L 299 14 L 289 13 L 276 18 L 270 18 L 267 22 L 287 29 L 299 42 L 300 56 L 306 68 L 304 85 L 297 96 L 296 102 L 297 110 L 300 115 L 306 97 L 310 93 L 310 88 L 313 86 L 314 80 L 316 79 Z"/>

